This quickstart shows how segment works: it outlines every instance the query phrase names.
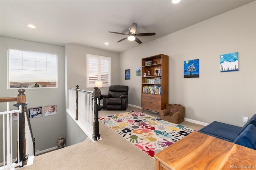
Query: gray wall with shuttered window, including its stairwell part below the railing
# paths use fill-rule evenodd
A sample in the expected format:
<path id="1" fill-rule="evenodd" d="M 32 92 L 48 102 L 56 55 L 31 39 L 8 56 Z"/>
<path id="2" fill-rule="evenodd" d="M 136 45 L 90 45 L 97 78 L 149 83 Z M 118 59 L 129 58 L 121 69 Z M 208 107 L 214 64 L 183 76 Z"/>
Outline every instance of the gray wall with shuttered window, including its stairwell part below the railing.
<path id="1" fill-rule="evenodd" d="M 119 53 L 106 51 L 102 49 L 96 49 L 91 47 L 85 47 L 75 44 L 65 45 L 65 60 L 66 60 L 66 89 L 76 88 L 79 85 L 79 89 L 94 91 L 93 88 L 86 88 L 86 54 L 101 55 L 111 57 L 111 71 L 112 71 L 112 85 L 119 85 L 120 77 L 120 55 Z M 108 93 L 108 88 L 103 87 L 101 89 L 102 94 Z M 68 93 L 66 93 L 66 99 L 68 99 Z M 66 106 L 68 108 L 68 100 L 66 100 Z M 82 142 L 86 138 L 86 135 L 72 118 L 66 113 L 66 145 Z"/>

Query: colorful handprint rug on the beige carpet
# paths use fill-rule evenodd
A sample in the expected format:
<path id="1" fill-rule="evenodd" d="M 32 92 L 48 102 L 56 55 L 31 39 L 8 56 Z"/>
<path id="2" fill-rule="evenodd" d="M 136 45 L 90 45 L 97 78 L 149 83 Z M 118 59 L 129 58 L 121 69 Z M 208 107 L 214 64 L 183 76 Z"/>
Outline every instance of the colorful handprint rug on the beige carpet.
<path id="1" fill-rule="evenodd" d="M 154 159 L 154 154 L 194 130 L 162 119 L 130 111 L 99 120 Z"/>

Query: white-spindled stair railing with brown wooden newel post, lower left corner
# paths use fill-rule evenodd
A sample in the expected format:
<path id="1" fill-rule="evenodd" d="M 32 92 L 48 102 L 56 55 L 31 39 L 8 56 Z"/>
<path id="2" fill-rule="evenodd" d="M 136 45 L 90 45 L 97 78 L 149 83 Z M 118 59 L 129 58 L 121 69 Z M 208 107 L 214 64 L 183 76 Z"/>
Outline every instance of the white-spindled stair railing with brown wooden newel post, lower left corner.
<path id="1" fill-rule="evenodd" d="M 28 111 L 26 109 L 26 95 L 24 89 L 18 90 L 19 94 L 17 97 L 1 97 L 0 103 L 7 103 L 6 110 L 0 112 L 0 118 L 2 119 L 2 131 L 0 134 L 3 136 L 3 144 L 0 148 L 3 150 L 3 155 L 0 155 L 0 170 L 9 170 L 14 169 L 16 167 L 22 167 L 24 165 L 33 164 L 34 159 L 34 138 L 32 134 L 32 128 L 30 126 L 30 120 L 28 116 Z M 17 103 L 14 106 L 18 107 L 18 110 L 9 109 L 9 102 Z M 15 115 L 17 113 L 17 116 Z M 14 115 L 12 115 L 14 114 Z M 15 119 L 14 123 L 17 123 L 17 146 L 15 149 L 16 154 L 13 155 L 14 152 L 12 148 L 12 136 L 14 129 L 12 129 L 12 119 Z M 16 130 L 15 130 L 16 131 Z M 0 143 L 1 144 L 1 143 Z M 16 158 L 16 160 L 15 160 Z M 15 160 L 15 161 L 14 161 Z M 12 163 L 13 162 L 13 163 Z"/>

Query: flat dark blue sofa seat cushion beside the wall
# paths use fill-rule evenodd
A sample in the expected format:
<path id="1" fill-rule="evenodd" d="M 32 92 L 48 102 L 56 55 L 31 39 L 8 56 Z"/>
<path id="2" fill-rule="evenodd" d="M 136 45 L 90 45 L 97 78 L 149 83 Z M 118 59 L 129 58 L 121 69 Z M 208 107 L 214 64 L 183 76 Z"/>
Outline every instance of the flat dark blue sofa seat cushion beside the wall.
<path id="1" fill-rule="evenodd" d="M 211 136 L 233 142 L 238 137 L 241 129 L 242 127 L 214 121 L 199 130 L 199 132 L 206 132 L 212 134 Z"/>

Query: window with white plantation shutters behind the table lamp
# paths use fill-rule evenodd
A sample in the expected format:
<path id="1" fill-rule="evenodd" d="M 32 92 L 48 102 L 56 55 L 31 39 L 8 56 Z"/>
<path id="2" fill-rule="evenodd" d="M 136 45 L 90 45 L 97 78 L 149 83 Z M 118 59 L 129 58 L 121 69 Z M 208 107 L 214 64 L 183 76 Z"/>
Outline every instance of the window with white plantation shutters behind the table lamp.
<path id="1" fill-rule="evenodd" d="M 87 54 L 86 87 L 94 87 L 94 81 L 102 81 L 103 87 L 111 85 L 111 57 Z"/>

